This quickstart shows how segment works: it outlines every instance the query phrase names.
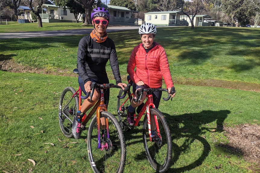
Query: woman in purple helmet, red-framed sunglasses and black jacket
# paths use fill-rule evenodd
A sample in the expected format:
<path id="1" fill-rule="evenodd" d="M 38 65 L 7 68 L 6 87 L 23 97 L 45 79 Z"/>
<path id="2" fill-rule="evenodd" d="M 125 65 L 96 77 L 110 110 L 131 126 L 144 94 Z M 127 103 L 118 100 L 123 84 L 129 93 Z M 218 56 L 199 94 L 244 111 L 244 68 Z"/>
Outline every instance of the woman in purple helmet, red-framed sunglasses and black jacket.
<path id="1" fill-rule="evenodd" d="M 126 84 L 121 82 L 116 47 L 113 40 L 108 38 L 106 33 L 110 20 L 109 11 L 105 8 L 95 8 L 91 13 L 91 20 L 94 26 L 93 31 L 90 35 L 83 37 L 78 44 L 77 67 L 79 71 L 79 85 L 86 94 L 91 91 L 90 86 L 92 82 L 98 84 L 109 83 L 106 73 L 106 63 L 109 60 L 116 84 L 124 89 Z M 82 117 L 87 110 L 94 106 L 94 103 L 99 99 L 99 95 L 99 91 L 95 90 L 92 101 L 85 99 L 82 103 L 81 111 L 78 111 L 77 116 L 73 119 L 72 132 L 76 139 L 79 139 L 81 135 Z M 104 91 L 104 100 L 107 106 L 109 89 Z"/>

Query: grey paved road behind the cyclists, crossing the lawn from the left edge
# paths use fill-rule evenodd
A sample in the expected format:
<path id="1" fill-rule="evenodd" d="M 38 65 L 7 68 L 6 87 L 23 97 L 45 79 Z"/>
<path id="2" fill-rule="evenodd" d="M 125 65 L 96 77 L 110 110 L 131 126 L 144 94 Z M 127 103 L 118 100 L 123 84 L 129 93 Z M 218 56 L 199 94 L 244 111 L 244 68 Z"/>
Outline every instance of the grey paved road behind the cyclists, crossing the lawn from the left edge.
<path id="1" fill-rule="evenodd" d="M 139 26 L 111 26 L 106 29 L 106 32 L 116 32 L 126 29 L 138 29 Z M 71 29 L 59 31 L 36 31 L 36 32 L 12 32 L 0 33 L 0 39 L 17 39 L 17 38 L 30 38 L 30 37 L 53 37 L 53 36 L 68 36 L 68 35 L 87 35 L 93 29 Z M 138 32 L 138 31 L 137 31 Z"/>

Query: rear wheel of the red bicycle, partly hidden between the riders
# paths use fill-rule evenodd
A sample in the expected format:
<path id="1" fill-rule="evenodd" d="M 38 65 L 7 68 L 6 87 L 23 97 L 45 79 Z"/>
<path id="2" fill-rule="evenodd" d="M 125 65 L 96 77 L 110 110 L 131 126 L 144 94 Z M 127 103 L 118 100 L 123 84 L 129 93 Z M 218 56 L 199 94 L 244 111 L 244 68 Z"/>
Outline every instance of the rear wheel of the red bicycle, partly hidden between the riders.
<path id="1" fill-rule="evenodd" d="M 124 94 L 124 90 L 120 89 L 118 95 L 122 96 L 123 94 Z M 127 96 L 125 98 L 123 98 L 123 99 L 120 99 L 120 98 L 117 99 L 118 121 L 119 121 L 122 129 L 125 130 L 125 131 L 129 130 L 129 128 L 128 128 L 129 124 L 128 124 L 128 121 L 127 121 L 127 109 L 128 109 L 128 106 L 131 104 L 132 96 L 131 96 L 130 99 L 128 99 L 125 102 L 126 99 L 128 99 Z M 121 110 L 120 110 L 120 107 L 121 107 Z"/>

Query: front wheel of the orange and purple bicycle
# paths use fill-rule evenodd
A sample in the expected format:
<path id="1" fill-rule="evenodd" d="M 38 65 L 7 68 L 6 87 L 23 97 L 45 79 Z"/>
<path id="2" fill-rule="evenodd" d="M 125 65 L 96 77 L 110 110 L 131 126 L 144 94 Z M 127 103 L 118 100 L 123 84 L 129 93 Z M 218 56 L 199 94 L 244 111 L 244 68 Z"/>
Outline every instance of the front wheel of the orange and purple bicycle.
<path id="1" fill-rule="evenodd" d="M 104 136 L 101 129 L 100 134 L 97 133 L 97 116 L 94 116 L 87 134 L 87 151 L 90 165 L 96 173 L 122 173 L 125 168 L 126 157 L 123 131 L 117 119 L 111 113 L 103 111 L 101 117 L 108 119 L 109 138 L 106 137 L 106 131 L 103 132 L 105 133 Z M 100 135 L 101 145 L 107 146 L 107 149 L 105 147 L 103 150 L 97 148 L 98 135 Z"/>

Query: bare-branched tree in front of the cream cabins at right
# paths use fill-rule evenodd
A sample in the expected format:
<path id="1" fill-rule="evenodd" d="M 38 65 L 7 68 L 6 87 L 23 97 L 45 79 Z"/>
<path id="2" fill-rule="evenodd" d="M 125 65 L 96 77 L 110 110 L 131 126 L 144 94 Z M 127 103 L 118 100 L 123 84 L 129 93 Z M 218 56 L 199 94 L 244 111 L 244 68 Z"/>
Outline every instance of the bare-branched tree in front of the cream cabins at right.
<path id="1" fill-rule="evenodd" d="M 182 1 L 182 7 L 181 11 L 183 14 L 185 14 L 187 17 L 189 17 L 189 20 L 191 21 L 192 27 L 191 29 L 194 29 L 194 17 L 197 14 L 202 14 L 205 11 L 207 11 L 209 8 L 209 5 L 205 0 L 191 0 L 191 1 Z M 186 12 L 185 12 L 186 11 Z M 190 17 L 192 16 L 192 18 Z"/>

